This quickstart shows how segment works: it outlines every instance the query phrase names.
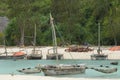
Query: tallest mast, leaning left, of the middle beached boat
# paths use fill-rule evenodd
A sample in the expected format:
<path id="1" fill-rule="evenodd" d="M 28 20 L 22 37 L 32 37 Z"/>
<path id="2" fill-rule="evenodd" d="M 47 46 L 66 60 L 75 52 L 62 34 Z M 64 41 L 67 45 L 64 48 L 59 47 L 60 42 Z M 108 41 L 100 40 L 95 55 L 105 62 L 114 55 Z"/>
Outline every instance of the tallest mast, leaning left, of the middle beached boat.
<path id="1" fill-rule="evenodd" d="M 56 54 L 56 59 L 58 60 L 56 32 L 55 32 L 55 27 L 53 24 L 53 17 L 51 15 L 51 13 L 50 13 L 50 24 L 52 27 L 52 36 L 53 36 L 53 52 L 54 52 L 54 54 Z"/>

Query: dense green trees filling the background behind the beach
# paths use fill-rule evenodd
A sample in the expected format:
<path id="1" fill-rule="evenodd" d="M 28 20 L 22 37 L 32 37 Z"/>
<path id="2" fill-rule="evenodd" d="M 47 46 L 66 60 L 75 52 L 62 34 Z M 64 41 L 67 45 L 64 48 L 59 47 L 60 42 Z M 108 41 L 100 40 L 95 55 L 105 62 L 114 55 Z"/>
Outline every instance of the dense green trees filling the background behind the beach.
<path id="1" fill-rule="evenodd" d="M 11 20 L 6 29 L 9 45 L 31 45 L 37 26 L 37 45 L 52 45 L 49 13 L 57 26 L 58 45 L 97 45 L 98 22 L 102 45 L 120 44 L 120 0 L 0 0 L 0 14 Z M 1 12 L 3 11 L 3 12 Z M 16 35 L 17 34 L 17 35 Z M 61 39 L 62 36 L 62 39 Z"/>

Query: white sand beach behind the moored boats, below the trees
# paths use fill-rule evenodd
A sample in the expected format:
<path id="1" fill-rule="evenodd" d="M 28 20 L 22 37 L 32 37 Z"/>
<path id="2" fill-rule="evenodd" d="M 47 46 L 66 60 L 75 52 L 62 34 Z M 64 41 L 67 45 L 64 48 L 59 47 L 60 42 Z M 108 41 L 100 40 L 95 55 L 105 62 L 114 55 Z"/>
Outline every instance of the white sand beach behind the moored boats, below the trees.
<path id="1" fill-rule="evenodd" d="M 36 47 L 36 50 L 42 50 L 42 55 L 43 55 L 43 59 L 46 59 L 46 54 L 48 53 L 48 49 L 51 49 L 52 46 L 38 46 Z M 94 49 L 93 51 L 89 51 L 89 52 L 65 52 L 65 49 L 67 49 L 68 47 L 58 47 L 58 52 L 60 54 L 64 55 L 64 59 L 87 59 L 87 60 L 91 60 L 91 55 L 92 54 L 97 54 L 97 47 L 90 47 L 91 49 Z M 102 50 L 102 54 L 106 54 L 108 55 L 108 60 L 119 60 L 120 59 L 120 51 L 110 51 L 109 50 L 110 47 L 101 47 Z M 24 47 L 24 48 L 20 48 L 20 47 L 7 47 L 7 52 L 8 53 L 14 53 L 20 50 L 24 50 L 24 52 L 26 54 L 31 54 L 33 47 L 29 46 L 29 47 Z M 4 53 L 4 47 L 0 47 L 0 51 L 1 53 Z M 52 53 L 52 50 L 51 50 Z"/>

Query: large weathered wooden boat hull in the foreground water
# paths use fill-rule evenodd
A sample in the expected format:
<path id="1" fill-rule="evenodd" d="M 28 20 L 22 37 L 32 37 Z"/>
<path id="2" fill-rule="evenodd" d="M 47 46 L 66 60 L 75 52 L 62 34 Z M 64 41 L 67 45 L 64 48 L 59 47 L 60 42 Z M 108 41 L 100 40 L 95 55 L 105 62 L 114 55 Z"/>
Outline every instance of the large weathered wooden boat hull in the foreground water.
<path id="1" fill-rule="evenodd" d="M 83 74 L 85 73 L 85 70 L 86 70 L 86 66 L 84 64 L 44 65 L 40 67 L 41 67 L 41 70 L 44 72 L 45 76 Z"/>

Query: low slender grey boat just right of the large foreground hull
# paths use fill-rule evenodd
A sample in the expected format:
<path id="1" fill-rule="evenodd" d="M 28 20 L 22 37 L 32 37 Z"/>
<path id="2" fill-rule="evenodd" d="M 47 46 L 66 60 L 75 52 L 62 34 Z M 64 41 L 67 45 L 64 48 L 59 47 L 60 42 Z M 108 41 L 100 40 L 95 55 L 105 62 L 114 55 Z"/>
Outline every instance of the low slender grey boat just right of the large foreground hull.
<path id="1" fill-rule="evenodd" d="M 117 72 L 117 68 L 110 67 L 110 66 L 103 66 L 100 65 L 99 67 L 92 67 L 91 69 L 102 72 L 102 73 L 114 73 Z"/>

